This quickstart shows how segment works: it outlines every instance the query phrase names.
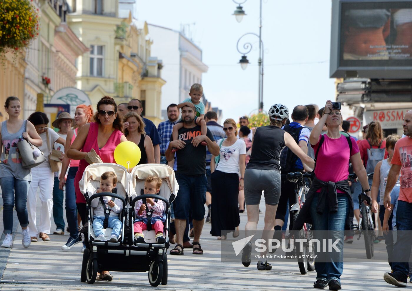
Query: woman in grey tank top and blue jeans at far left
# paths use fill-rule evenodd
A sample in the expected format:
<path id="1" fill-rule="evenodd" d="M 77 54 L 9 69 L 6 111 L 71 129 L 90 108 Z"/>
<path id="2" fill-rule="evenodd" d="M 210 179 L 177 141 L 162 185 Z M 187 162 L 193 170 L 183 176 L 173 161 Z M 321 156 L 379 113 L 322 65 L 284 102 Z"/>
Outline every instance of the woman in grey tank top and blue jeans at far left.
<path id="1" fill-rule="evenodd" d="M 6 99 L 4 108 L 9 119 L 0 123 L 0 186 L 3 198 L 3 224 L 5 239 L 2 247 L 11 248 L 13 244 L 13 208 L 16 207 L 17 218 L 22 231 L 22 244 L 25 248 L 30 246 L 30 233 L 28 230 L 27 195 L 32 181 L 30 169 L 21 165 L 21 157 L 17 142 L 20 137 L 30 141 L 35 146 L 41 146 L 43 141 L 33 124 L 28 120 L 19 118 L 21 113 L 20 100 L 10 96 Z"/>

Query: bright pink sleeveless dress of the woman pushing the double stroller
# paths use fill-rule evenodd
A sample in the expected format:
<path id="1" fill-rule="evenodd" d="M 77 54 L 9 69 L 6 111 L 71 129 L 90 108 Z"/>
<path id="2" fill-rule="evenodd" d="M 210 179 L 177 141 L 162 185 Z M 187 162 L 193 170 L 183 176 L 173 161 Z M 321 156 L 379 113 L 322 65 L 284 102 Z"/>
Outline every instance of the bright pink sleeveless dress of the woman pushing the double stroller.
<path id="1" fill-rule="evenodd" d="M 96 153 L 99 155 L 101 160 L 104 163 L 114 163 L 115 162 L 115 148 L 120 143 L 120 138 L 122 137 L 122 132 L 118 129 L 115 129 L 112 134 L 110 135 L 108 141 L 103 148 L 99 149 L 97 143 L 97 135 L 98 135 L 99 124 L 96 122 L 90 123 L 89 133 L 87 134 L 86 141 L 84 142 L 82 152 L 89 153 L 90 150 L 93 148 Z M 76 203 L 86 203 L 86 199 L 84 199 L 83 193 L 80 192 L 79 182 L 82 179 L 84 169 L 89 165 L 86 160 L 80 160 L 79 169 L 77 170 L 75 176 L 75 191 L 76 191 Z"/>

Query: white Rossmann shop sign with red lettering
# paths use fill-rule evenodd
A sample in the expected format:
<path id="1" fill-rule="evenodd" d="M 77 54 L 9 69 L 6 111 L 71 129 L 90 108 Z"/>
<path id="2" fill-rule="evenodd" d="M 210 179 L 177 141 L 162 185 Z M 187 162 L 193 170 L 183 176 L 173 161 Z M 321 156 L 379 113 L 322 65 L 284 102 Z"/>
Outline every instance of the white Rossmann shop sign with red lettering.
<path id="1" fill-rule="evenodd" d="M 400 128 L 402 127 L 403 117 L 410 108 L 391 109 L 391 110 L 372 110 L 363 114 L 366 124 L 371 121 L 379 121 L 382 128 Z"/>

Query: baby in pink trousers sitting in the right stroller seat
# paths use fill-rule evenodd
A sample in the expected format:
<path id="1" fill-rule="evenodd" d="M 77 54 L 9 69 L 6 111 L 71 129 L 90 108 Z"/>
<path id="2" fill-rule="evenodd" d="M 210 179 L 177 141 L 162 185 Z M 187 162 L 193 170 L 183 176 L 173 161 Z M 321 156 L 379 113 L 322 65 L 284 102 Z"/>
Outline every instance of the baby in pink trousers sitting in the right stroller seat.
<path id="1" fill-rule="evenodd" d="M 147 176 L 145 186 L 143 189 L 144 194 L 158 194 L 160 187 L 162 186 L 162 179 L 158 176 Z M 148 208 L 148 209 L 147 209 Z M 156 242 L 158 244 L 164 244 L 166 242 L 163 236 L 163 223 L 166 220 L 166 214 L 164 213 L 164 204 L 161 200 L 156 201 L 147 198 L 146 203 L 143 200 L 138 200 L 136 203 L 136 220 L 134 223 L 134 236 L 138 243 L 145 243 L 143 237 L 143 230 L 147 229 L 147 215 L 146 210 L 152 210 L 151 224 L 152 228 L 156 231 Z"/>

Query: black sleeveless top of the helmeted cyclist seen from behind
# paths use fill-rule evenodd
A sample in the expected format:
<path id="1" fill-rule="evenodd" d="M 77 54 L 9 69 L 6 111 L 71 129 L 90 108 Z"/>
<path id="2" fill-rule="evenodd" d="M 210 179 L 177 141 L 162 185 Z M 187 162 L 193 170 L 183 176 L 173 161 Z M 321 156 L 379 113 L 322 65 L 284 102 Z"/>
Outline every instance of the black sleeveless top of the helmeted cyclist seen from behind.
<path id="1" fill-rule="evenodd" d="M 280 171 L 279 156 L 285 147 L 285 131 L 274 125 L 258 127 L 246 169 Z"/>

